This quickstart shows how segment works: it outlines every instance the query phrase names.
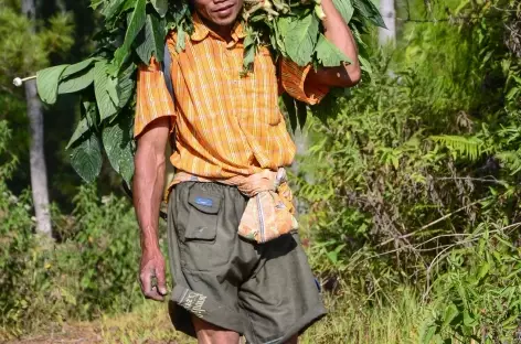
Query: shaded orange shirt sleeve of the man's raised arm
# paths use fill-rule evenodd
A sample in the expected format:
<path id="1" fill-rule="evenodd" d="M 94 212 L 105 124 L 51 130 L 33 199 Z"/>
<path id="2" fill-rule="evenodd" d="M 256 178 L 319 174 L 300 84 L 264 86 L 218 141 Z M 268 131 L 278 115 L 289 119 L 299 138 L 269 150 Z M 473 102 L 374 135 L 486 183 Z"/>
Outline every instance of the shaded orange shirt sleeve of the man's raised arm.
<path id="1" fill-rule="evenodd" d="M 301 67 L 290 60 L 280 58 L 279 67 L 281 86 L 295 99 L 316 105 L 329 93 L 329 87 L 306 80 L 311 65 Z"/>

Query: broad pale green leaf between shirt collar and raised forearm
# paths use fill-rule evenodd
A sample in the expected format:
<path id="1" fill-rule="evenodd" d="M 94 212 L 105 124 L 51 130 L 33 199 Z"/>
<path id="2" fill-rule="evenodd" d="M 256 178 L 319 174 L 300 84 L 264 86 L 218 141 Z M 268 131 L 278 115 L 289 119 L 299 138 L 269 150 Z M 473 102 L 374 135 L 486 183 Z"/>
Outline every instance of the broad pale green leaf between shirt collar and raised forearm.
<path id="1" fill-rule="evenodd" d="M 286 53 L 300 66 L 311 62 L 311 55 L 318 40 L 319 22 L 313 13 L 291 21 L 284 39 Z"/>

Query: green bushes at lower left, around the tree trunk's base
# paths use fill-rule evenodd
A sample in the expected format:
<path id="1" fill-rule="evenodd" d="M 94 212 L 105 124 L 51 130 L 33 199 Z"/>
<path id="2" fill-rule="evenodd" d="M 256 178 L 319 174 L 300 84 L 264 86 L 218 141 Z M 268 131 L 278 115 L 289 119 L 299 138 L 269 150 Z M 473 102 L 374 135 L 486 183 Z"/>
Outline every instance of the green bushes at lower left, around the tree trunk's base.
<path id="1" fill-rule="evenodd" d="M 20 335 L 139 304 L 139 239 L 130 204 L 113 195 L 99 202 L 93 185 L 82 186 L 71 216 L 53 212 L 60 243 L 36 236 L 30 193 L 17 196 L 6 185 L 17 162 L 7 151 L 9 140 L 0 121 L 0 333 Z"/>

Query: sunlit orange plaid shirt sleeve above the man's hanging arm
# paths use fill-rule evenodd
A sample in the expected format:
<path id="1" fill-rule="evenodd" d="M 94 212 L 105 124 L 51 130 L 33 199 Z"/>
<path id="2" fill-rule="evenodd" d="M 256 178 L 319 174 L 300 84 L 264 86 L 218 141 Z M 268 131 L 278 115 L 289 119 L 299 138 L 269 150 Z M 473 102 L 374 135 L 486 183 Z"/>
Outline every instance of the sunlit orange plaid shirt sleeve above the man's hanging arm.
<path id="1" fill-rule="evenodd" d="M 142 133 L 153 120 L 176 116 L 173 99 L 168 92 L 159 63 L 152 57 L 150 65 L 138 71 L 134 137 Z"/>

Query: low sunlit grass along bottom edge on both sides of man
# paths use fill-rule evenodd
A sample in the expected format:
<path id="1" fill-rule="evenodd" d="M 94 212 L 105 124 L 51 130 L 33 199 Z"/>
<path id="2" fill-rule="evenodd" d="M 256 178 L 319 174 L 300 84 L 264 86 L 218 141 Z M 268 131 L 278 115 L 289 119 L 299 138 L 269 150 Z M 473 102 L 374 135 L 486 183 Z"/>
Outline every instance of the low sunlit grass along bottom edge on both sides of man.
<path id="1" fill-rule="evenodd" d="M 300 343 L 419 343 L 419 327 L 427 309 L 421 307 L 411 292 L 404 291 L 398 295 L 395 303 L 384 307 L 361 304 L 352 295 L 327 295 L 325 302 L 329 314 L 309 329 Z M 166 303 L 146 302 L 128 314 L 66 324 L 61 332 L 8 343 L 193 344 L 196 341 L 172 329 Z"/>

